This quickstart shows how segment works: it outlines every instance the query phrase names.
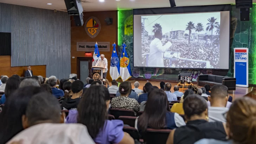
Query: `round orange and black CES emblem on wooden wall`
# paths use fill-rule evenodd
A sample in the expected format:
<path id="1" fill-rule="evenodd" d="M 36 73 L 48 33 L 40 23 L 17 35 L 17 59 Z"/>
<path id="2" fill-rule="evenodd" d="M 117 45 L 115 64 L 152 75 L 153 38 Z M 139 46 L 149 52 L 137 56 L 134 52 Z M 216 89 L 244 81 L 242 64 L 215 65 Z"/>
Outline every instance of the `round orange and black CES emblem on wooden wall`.
<path id="1" fill-rule="evenodd" d="M 85 21 L 85 31 L 91 38 L 95 38 L 101 31 L 101 23 L 96 17 L 90 17 Z"/>

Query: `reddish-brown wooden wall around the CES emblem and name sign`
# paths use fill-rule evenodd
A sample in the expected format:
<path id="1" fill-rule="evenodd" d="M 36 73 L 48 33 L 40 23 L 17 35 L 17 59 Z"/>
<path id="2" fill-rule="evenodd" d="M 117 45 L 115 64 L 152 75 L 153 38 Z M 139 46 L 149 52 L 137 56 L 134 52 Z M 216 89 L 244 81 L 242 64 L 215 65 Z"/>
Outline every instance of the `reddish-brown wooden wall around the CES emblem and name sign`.
<path id="1" fill-rule="evenodd" d="M 84 14 L 84 22 L 89 17 L 96 17 L 101 22 L 101 31 L 95 38 L 90 38 L 89 35 L 85 31 L 85 27 L 76 27 L 74 20 L 71 17 L 71 73 L 77 74 L 77 57 L 85 57 L 84 52 L 76 51 L 77 42 L 110 42 L 110 51 L 109 52 L 101 52 L 100 54 L 104 54 L 105 58 L 108 59 L 108 74 L 107 79 L 111 80 L 109 75 L 110 68 L 110 58 L 112 54 L 112 44 L 117 43 L 117 11 L 100 11 L 100 12 L 85 12 Z M 107 25 L 105 23 L 105 18 L 113 18 L 113 24 Z M 93 53 L 93 52 L 92 52 Z M 75 58 L 72 58 L 75 57 Z"/>

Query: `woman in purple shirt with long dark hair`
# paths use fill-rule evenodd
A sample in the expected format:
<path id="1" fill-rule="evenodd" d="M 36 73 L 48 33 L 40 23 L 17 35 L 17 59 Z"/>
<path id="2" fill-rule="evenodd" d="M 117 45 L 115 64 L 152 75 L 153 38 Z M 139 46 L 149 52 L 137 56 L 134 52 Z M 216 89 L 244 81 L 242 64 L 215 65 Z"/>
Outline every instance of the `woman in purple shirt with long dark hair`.
<path id="1" fill-rule="evenodd" d="M 108 120 L 110 96 L 101 85 L 90 86 L 81 98 L 77 111 L 70 110 L 68 123 L 84 124 L 89 135 L 98 144 L 134 144 L 134 139 L 123 132 L 122 120 Z"/>

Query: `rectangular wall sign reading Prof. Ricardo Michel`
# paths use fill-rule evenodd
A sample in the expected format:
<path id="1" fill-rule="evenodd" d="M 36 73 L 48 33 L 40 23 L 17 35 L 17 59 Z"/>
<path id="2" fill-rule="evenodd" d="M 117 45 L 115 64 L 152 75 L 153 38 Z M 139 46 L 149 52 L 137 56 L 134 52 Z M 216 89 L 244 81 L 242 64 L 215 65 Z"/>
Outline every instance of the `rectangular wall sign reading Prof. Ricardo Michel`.
<path id="1" fill-rule="evenodd" d="M 94 45 L 95 42 L 77 42 L 76 44 L 76 51 L 94 51 Z M 109 52 L 109 43 L 110 42 L 97 42 L 98 44 L 98 49 L 100 52 Z"/>

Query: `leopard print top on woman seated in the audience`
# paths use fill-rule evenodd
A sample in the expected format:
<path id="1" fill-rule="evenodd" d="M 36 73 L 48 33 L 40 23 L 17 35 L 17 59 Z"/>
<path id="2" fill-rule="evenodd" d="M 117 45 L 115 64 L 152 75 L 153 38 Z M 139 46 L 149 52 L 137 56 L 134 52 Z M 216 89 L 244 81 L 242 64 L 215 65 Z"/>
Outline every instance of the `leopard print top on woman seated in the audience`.
<path id="1" fill-rule="evenodd" d="M 113 98 L 111 100 L 111 107 L 113 109 L 134 110 L 135 115 L 140 110 L 140 105 L 136 99 L 124 96 Z"/>

